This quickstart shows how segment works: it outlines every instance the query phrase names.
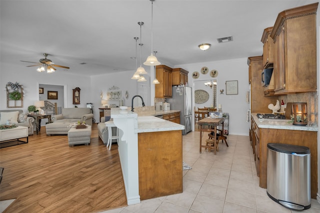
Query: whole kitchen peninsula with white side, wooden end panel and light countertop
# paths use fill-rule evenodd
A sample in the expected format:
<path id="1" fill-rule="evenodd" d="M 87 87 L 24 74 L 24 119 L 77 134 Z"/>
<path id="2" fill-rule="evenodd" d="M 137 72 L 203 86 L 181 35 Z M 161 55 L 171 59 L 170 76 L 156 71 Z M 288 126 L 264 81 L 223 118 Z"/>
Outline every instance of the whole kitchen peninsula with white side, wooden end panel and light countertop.
<path id="1" fill-rule="evenodd" d="M 183 125 L 111 108 L 128 204 L 182 192 Z"/>

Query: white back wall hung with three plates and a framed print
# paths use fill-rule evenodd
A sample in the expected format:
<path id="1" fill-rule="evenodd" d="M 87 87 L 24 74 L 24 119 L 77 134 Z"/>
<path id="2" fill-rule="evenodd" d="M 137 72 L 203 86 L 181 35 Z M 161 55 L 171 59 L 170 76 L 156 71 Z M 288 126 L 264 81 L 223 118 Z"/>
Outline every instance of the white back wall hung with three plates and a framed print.
<path id="1" fill-rule="evenodd" d="M 208 73 L 202 74 L 200 72 L 200 69 L 203 66 L 208 67 Z M 217 104 L 222 104 L 222 110 L 224 112 L 229 113 L 229 133 L 237 135 L 249 134 L 249 123 L 246 122 L 249 104 L 245 100 L 246 91 L 248 90 L 247 58 L 237 58 L 231 60 L 210 61 L 192 64 L 180 64 L 176 65 L 175 67 L 181 67 L 189 71 L 188 85 L 192 87 L 193 91 L 195 80 L 217 79 Z M 218 71 L 218 75 L 215 78 L 212 78 L 209 74 L 210 70 L 212 69 L 216 69 Z M 200 73 L 200 76 L 197 79 L 192 78 L 192 72 L 194 71 Z M 225 81 L 228 80 L 238 81 L 237 95 L 225 94 Z M 224 89 L 224 94 L 220 94 L 220 89 Z"/>

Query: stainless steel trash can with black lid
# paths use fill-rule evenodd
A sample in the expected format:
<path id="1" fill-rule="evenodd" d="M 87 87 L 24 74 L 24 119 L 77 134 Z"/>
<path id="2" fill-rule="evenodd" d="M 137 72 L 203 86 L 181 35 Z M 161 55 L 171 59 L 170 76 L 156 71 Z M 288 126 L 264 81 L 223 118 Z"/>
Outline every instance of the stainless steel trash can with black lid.
<path id="1" fill-rule="evenodd" d="M 267 148 L 267 195 L 288 208 L 310 208 L 310 149 L 281 143 L 268 143 Z"/>

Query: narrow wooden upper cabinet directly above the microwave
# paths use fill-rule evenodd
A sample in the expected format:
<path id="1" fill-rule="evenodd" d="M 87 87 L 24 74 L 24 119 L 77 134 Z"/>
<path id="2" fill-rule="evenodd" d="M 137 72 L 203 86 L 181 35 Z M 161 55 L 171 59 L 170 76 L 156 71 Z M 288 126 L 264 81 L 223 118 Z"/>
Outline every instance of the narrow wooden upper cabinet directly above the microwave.
<path id="1" fill-rule="evenodd" d="M 270 37 L 272 26 L 263 30 L 261 42 L 263 43 L 263 66 L 265 68 L 273 67 L 274 43 Z"/>

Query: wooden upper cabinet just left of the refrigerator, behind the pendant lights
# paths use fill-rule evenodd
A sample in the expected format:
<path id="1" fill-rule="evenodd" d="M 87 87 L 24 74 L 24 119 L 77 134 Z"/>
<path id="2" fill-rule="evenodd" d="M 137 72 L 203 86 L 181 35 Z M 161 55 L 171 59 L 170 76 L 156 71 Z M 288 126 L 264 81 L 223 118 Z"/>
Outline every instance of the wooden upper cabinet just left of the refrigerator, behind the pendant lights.
<path id="1" fill-rule="evenodd" d="M 172 68 L 157 65 L 155 76 L 160 83 L 155 84 L 154 97 L 172 97 Z"/>

